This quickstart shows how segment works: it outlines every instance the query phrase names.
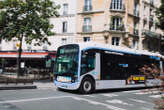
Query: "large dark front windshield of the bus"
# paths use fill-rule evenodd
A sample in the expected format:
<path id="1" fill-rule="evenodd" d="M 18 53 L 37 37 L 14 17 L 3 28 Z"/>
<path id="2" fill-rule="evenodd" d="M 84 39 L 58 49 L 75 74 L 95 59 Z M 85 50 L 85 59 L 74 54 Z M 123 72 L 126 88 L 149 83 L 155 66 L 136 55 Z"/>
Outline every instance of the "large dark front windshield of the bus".
<path id="1" fill-rule="evenodd" d="M 65 45 L 59 47 L 56 55 L 55 74 L 77 75 L 78 71 L 78 45 Z"/>

